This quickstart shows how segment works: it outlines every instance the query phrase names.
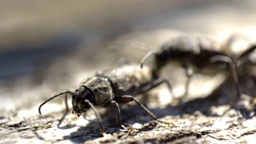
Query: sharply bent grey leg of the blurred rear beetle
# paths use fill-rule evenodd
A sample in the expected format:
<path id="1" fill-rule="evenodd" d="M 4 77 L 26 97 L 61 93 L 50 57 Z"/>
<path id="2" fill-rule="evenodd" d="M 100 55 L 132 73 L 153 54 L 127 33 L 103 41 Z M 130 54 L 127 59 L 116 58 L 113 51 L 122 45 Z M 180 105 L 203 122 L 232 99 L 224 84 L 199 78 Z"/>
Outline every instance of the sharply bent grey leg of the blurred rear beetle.
<path id="1" fill-rule="evenodd" d="M 238 77 L 237 77 L 237 74 L 236 74 L 235 65 L 234 65 L 233 61 L 231 60 L 230 57 L 223 56 L 223 55 L 216 55 L 216 56 L 213 56 L 213 57 L 210 58 L 211 63 L 218 62 L 218 61 L 225 62 L 229 65 L 231 74 L 232 74 L 234 82 L 236 84 L 236 90 L 237 90 L 238 96 L 240 96 L 240 94 L 242 94 L 242 91 L 240 89 L 240 85 L 239 85 L 239 82 L 238 82 Z"/>

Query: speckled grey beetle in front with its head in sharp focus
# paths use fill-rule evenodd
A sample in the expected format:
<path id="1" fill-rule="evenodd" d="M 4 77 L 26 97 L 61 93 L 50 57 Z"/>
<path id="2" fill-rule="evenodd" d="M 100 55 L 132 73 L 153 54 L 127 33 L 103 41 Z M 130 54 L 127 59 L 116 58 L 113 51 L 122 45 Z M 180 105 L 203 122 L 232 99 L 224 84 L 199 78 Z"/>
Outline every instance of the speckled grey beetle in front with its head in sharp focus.
<path id="1" fill-rule="evenodd" d="M 67 94 L 69 93 L 72 95 L 72 114 L 76 113 L 79 117 L 83 112 L 87 112 L 92 108 L 96 118 L 98 119 L 101 134 L 104 132 L 102 120 L 94 106 L 106 108 L 115 107 L 117 124 L 122 128 L 124 128 L 124 126 L 122 126 L 118 103 L 135 101 L 138 106 L 148 114 L 148 116 L 153 120 L 160 121 L 156 116 L 154 116 L 154 114 L 152 114 L 152 112 L 134 98 L 133 95 L 146 92 L 163 82 L 166 82 L 169 88 L 171 88 L 166 79 L 157 78 L 148 66 L 144 66 L 144 68 L 141 69 L 138 64 L 124 65 L 112 70 L 99 70 L 96 72 L 94 77 L 84 79 L 77 90 L 61 92 L 60 94 L 57 94 L 43 102 L 39 106 L 38 111 L 39 114 L 41 114 L 41 107 L 46 104 L 46 102 L 62 94 L 66 94 L 65 104 L 66 110 L 68 111 Z"/>

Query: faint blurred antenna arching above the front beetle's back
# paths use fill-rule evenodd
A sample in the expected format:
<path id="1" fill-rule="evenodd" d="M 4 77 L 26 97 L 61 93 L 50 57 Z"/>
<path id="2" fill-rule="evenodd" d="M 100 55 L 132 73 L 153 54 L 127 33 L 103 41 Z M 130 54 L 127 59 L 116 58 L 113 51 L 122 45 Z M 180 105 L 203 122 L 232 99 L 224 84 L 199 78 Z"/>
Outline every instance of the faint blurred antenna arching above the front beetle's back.
<path id="1" fill-rule="evenodd" d="M 154 50 L 155 48 L 149 44 L 143 42 L 137 42 L 134 40 L 118 40 L 115 42 L 109 42 L 103 46 L 103 50 L 116 50 L 120 48 L 134 48 L 143 51 Z"/>

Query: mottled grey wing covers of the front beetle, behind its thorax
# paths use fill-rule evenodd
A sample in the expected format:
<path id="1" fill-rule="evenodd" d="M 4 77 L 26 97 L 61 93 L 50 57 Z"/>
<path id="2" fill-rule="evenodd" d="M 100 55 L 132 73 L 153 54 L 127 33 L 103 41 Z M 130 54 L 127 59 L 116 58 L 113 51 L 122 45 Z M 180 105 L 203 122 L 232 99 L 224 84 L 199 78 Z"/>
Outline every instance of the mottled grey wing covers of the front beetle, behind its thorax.
<path id="1" fill-rule="evenodd" d="M 124 65 L 112 70 L 99 70 L 95 75 L 109 79 L 116 97 L 137 94 L 140 88 L 154 80 L 152 70 L 146 65 L 141 69 L 138 64 Z"/>

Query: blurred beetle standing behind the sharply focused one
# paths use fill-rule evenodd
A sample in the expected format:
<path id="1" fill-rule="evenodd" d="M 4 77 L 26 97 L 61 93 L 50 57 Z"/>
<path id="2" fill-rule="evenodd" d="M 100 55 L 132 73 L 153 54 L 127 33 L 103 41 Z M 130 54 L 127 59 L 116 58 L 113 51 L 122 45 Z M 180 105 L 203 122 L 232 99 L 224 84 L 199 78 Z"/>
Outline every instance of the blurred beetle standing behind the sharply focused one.
<path id="1" fill-rule="evenodd" d="M 234 63 L 238 63 L 238 60 L 248 56 L 248 54 L 254 51 L 256 47 L 255 45 L 252 45 L 248 48 L 248 50 L 240 54 L 240 56 L 235 56 L 232 54 L 232 52 L 230 52 L 230 46 L 232 43 L 236 42 L 237 37 L 238 34 L 232 34 L 225 44 L 218 44 L 217 42 L 214 42 L 206 37 L 180 36 L 177 38 L 172 38 L 162 44 L 160 48 L 149 51 L 141 60 L 141 68 L 146 60 L 153 55 L 155 55 L 154 70 L 156 72 L 158 72 L 170 60 L 180 61 L 182 66 L 187 70 L 188 79 L 184 94 L 184 96 L 186 96 L 188 84 L 193 74 L 193 70 L 188 68 L 188 62 L 191 62 L 198 69 L 212 65 L 215 62 L 224 62 L 228 64 L 230 68 L 233 80 L 236 84 L 237 94 L 240 96 L 242 91 L 240 89 Z"/>

